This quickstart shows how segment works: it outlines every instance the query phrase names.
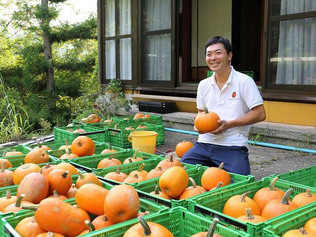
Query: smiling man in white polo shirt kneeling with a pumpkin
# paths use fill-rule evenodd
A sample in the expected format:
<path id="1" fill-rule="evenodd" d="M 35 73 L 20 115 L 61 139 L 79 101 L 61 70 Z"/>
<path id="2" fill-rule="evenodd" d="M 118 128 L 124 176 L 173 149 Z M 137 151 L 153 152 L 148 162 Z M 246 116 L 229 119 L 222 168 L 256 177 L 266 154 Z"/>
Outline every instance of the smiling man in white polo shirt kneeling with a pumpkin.
<path id="1" fill-rule="evenodd" d="M 197 143 L 181 162 L 219 166 L 237 174 L 250 174 L 246 142 L 250 125 L 265 120 L 263 100 L 252 78 L 230 66 L 233 56 L 229 40 L 215 36 L 205 44 L 206 63 L 214 73 L 200 81 L 197 88 L 198 113 L 218 114 L 219 128 L 199 133 Z M 195 130 L 198 130 L 195 127 Z"/>

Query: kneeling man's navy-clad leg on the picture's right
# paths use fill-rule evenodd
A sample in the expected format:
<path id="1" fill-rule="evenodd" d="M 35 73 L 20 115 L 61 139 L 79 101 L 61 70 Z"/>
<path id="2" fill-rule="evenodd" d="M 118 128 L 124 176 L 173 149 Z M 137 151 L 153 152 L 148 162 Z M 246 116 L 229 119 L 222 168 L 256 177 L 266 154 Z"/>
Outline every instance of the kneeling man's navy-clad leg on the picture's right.
<path id="1" fill-rule="evenodd" d="M 224 162 L 224 169 L 228 172 L 248 175 L 250 165 L 248 148 L 246 146 L 219 146 L 211 144 L 211 160 L 219 166 Z"/>

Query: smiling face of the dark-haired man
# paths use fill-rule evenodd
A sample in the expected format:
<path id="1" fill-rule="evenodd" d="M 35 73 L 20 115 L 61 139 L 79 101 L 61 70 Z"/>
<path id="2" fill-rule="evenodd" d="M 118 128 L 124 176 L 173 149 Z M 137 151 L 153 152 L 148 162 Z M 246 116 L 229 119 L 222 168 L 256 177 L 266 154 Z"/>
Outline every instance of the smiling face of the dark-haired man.
<path id="1" fill-rule="evenodd" d="M 220 72 L 229 67 L 233 53 L 227 54 L 222 43 L 215 43 L 206 48 L 206 63 L 213 72 Z"/>

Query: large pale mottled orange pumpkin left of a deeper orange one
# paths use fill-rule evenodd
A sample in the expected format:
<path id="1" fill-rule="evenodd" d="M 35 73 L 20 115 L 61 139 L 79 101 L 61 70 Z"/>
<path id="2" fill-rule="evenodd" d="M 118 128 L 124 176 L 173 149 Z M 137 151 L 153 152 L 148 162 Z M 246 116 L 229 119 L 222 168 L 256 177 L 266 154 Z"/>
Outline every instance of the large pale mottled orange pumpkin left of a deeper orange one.
<path id="1" fill-rule="evenodd" d="M 40 173 L 30 173 L 21 181 L 16 194 L 17 196 L 25 194 L 24 201 L 37 204 L 47 197 L 48 190 L 48 180 L 44 175 Z"/>

